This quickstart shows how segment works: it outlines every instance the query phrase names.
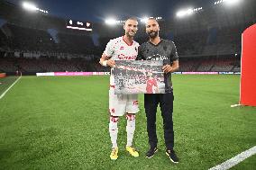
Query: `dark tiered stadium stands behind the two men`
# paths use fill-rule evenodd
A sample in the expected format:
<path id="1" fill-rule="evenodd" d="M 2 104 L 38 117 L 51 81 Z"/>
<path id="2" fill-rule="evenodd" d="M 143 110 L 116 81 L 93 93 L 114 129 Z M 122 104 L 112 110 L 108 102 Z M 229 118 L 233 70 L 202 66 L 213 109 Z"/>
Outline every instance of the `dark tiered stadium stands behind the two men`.
<path id="1" fill-rule="evenodd" d="M 252 4 L 252 5 L 251 5 Z M 179 55 L 179 71 L 239 72 L 241 34 L 256 22 L 255 4 L 224 11 L 220 6 L 205 8 L 189 18 L 160 21 L 160 37 L 174 40 Z M 246 13 L 245 13 L 246 11 Z M 106 43 L 123 34 L 123 26 L 108 27 L 95 22 L 93 33 L 66 28 L 67 19 L 35 13 L 0 2 L 0 71 L 34 75 L 51 71 L 109 71 L 98 60 Z M 40 21 L 40 22 L 38 22 Z M 140 23 L 141 24 L 141 23 Z M 50 29 L 56 31 L 56 37 Z M 98 35 L 98 44 L 93 40 Z M 144 26 L 135 37 L 146 41 Z"/>

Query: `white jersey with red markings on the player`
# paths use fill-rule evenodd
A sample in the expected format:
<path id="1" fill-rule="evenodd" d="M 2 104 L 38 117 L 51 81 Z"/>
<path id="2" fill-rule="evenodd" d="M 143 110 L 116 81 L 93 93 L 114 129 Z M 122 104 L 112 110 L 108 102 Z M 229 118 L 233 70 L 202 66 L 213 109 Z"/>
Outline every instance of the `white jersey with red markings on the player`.
<path id="1" fill-rule="evenodd" d="M 138 55 L 139 43 L 133 40 L 129 45 L 123 37 L 110 40 L 105 48 L 105 55 L 113 60 L 135 60 Z"/>

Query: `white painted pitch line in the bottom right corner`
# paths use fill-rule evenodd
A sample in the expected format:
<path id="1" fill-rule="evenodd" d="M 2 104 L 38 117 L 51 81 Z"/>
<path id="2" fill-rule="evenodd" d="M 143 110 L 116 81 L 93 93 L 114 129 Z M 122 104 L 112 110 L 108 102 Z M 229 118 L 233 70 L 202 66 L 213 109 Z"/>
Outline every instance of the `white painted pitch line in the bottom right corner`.
<path id="1" fill-rule="evenodd" d="M 229 169 L 237 164 L 239 164 L 240 162 L 242 162 L 244 159 L 253 156 L 254 154 L 256 154 L 256 146 L 245 150 L 244 152 L 242 152 L 241 154 L 238 154 L 235 157 L 232 157 L 231 159 L 225 161 L 224 163 L 212 167 L 209 170 L 226 170 Z"/>

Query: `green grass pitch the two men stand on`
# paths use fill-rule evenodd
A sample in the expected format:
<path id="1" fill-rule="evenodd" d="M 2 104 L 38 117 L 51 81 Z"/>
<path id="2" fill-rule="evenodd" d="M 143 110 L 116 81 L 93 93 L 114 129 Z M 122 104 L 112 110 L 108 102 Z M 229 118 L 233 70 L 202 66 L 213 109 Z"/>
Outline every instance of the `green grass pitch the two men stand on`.
<path id="1" fill-rule="evenodd" d="M 174 75 L 175 149 L 165 155 L 157 114 L 159 151 L 148 150 L 143 95 L 136 117 L 135 158 L 125 151 L 126 120 L 119 122 L 119 158 L 111 161 L 109 76 L 23 76 L 0 100 L 0 169 L 208 169 L 256 144 L 256 108 L 239 101 L 239 76 Z M 255 155 L 233 169 L 253 169 Z"/>

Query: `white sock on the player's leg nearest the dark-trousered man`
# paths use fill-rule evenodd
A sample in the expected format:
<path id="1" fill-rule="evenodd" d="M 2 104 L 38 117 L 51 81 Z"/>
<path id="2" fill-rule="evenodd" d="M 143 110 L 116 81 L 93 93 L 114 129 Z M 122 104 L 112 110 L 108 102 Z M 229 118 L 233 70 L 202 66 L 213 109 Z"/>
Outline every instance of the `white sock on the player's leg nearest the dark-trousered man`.
<path id="1" fill-rule="evenodd" d="M 127 146 L 133 146 L 133 135 L 135 131 L 135 115 L 127 114 L 126 119 L 127 119 L 127 126 L 126 126 Z"/>

